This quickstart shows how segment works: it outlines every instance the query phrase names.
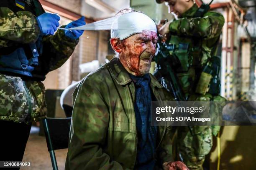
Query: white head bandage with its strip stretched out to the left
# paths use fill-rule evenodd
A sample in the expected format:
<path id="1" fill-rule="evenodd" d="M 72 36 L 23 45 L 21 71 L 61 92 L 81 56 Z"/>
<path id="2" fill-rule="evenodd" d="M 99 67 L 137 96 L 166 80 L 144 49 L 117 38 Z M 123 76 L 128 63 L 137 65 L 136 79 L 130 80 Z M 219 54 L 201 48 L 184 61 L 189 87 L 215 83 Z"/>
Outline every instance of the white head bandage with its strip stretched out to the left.
<path id="1" fill-rule="evenodd" d="M 123 40 L 144 30 L 156 32 L 156 24 L 143 13 L 131 12 L 117 15 L 105 20 L 62 30 L 111 30 L 111 38 Z"/>

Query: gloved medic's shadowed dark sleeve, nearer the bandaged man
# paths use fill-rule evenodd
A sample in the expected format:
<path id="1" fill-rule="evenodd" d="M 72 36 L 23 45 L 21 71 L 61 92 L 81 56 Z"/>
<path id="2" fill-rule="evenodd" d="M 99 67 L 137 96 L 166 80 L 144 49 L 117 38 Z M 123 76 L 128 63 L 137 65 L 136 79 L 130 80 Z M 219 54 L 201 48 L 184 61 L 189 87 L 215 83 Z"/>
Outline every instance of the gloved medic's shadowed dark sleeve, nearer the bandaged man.
<path id="1" fill-rule="evenodd" d="M 53 36 L 44 37 L 42 41 L 42 58 L 46 62 L 49 71 L 55 70 L 63 65 L 74 52 L 78 42 L 79 39 L 72 40 L 66 37 L 64 30 L 57 30 Z"/>

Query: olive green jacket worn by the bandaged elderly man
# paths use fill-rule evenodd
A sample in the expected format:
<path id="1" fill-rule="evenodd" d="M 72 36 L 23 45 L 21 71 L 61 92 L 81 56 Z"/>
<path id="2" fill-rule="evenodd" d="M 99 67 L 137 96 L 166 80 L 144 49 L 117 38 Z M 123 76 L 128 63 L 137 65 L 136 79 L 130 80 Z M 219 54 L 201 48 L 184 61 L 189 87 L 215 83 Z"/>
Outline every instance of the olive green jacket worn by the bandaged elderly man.
<path id="1" fill-rule="evenodd" d="M 164 88 L 150 74 L 156 99 Z M 65 169 L 128 170 L 136 162 L 135 86 L 119 59 L 87 75 L 73 94 L 74 109 Z M 157 161 L 172 161 L 172 130 L 158 130 Z"/>

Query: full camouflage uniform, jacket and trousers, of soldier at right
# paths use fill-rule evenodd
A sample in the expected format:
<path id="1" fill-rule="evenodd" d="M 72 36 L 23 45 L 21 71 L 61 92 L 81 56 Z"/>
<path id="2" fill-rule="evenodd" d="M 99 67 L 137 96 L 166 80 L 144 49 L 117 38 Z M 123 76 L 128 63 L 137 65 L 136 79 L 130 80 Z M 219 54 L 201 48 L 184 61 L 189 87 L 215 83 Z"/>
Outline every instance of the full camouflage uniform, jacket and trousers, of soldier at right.
<path id="1" fill-rule="evenodd" d="M 197 9 L 197 5 L 194 4 L 179 19 L 170 23 L 168 43 L 173 48 L 169 52 L 177 56 L 181 63 L 176 72 L 182 91 L 186 97 L 189 97 L 188 100 L 225 101 L 221 96 L 195 93 L 196 82 L 206 62 L 215 54 L 224 25 L 223 16 L 216 12 L 207 12 L 202 18 L 193 18 Z M 192 127 L 192 135 L 188 127 L 179 127 L 177 157 L 183 160 L 189 169 L 201 170 L 205 155 L 212 148 L 212 134 L 217 135 L 219 128 L 219 126 Z"/>

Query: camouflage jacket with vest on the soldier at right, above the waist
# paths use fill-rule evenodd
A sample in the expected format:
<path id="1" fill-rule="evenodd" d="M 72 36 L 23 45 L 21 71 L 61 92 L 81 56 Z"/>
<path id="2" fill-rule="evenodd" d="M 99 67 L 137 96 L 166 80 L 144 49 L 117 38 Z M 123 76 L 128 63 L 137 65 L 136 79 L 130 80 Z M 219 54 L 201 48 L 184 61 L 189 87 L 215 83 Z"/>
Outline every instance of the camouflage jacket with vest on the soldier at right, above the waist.
<path id="1" fill-rule="evenodd" d="M 215 55 L 224 17 L 209 11 L 202 18 L 193 18 L 198 7 L 194 4 L 181 18 L 169 25 L 169 45 L 171 55 L 177 56 L 181 65 L 177 77 L 185 94 L 191 92 L 202 68 L 212 55 Z"/>

